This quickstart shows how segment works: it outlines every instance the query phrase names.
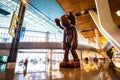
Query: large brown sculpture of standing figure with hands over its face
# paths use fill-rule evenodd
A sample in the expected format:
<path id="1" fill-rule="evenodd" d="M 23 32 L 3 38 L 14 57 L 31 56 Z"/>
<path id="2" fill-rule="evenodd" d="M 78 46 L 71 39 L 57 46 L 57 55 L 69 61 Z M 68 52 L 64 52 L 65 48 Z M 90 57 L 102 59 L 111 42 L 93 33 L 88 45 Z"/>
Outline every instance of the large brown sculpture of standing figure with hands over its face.
<path id="1" fill-rule="evenodd" d="M 77 32 L 75 28 L 75 16 L 72 12 L 69 12 L 66 15 L 61 16 L 60 19 L 55 19 L 55 23 L 57 26 L 59 26 L 61 29 L 64 30 L 64 37 L 62 42 L 62 48 L 65 50 L 64 53 L 64 59 L 60 63 L 60 67 L 80 67 L 79 65 L 79 58 L 76 53 L 77 48 Z M 69 62 L 68 54 L 69 50 L 71 51 L 73 55 L 73 61 L 72 64 Z M 77 63 L 76 66 L 74 66 Z"/>

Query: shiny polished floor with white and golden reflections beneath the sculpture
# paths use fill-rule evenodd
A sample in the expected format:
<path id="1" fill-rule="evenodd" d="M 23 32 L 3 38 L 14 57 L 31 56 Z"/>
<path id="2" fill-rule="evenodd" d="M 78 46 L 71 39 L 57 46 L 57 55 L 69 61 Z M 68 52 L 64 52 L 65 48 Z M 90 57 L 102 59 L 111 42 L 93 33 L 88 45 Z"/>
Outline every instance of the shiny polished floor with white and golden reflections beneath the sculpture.
<path id="1" fill-rule="evenodd" d="M 59 63 L 38 62 L 28 64 L 27 69 L 17 63 L 15 70 L 0 72 L 0 80 L 120 80 L 120 71 L 109 61 L 81 62 L 81 68 L 59 68 Z"/>

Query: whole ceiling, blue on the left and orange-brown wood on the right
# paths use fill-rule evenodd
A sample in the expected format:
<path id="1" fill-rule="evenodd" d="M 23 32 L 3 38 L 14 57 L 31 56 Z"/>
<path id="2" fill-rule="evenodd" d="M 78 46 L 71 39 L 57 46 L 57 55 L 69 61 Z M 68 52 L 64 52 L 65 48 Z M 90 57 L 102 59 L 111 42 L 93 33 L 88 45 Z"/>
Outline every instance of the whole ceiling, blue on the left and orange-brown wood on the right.
<path id="1" fill-rule="evenodd" d="M 19 0 L 12 1 L 17 3 Z M 117 16 L 116 11 L 120 10 L 120 0 L 108 1 L 113 21 L 116 25 L 119 25 L 120 17 Z M 28 0 L 28 4 L 28 11 L 31 11 L 42 19 L 44 17 L 41 17 L 41 15 L 44 15 L 44 20 L 58 31 L 60 31 L 60 29 L 55 25 L 54 19 L 59 18 L 68 11 L 72 11 L 76 15 L 77 27 L 81 34 L 84 38 L 88 39 L 89 42 L 95 42 L 94 29 L 97 29 L 97 27 L 88 13 L 88 10 L 91 9 L 96 11 L 95 0 Z M 33 11 L 29 6 L 37 10 L 39 14 Z M 98 32 L 98 34 L 100 36 L 101 44 L 106 44 L 107 40 L 105 37 L 100 32 Z"/>

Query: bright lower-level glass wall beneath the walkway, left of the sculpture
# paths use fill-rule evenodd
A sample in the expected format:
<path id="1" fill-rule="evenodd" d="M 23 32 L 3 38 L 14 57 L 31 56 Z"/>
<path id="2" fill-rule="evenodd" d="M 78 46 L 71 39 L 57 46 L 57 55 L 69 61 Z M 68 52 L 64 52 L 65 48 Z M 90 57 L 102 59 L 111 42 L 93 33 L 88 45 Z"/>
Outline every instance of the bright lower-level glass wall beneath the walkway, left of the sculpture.
<path id="1" fill-rule="evenodd" d="M 63 59 L 63 50 L 57 49 L 53 50 L 52 60 L 59 62 Z M 25 60 L 26 58 L 29 59 L 29 61 L 37 60 L 38 62 L 46 62 L 47 59 L 50 59 L 50 50 L 49 49 L 25 49 L 25 50 L 19 50 L 18 51 L 18 57 L 17 62 L 20 62 L 22 60 Z"/>

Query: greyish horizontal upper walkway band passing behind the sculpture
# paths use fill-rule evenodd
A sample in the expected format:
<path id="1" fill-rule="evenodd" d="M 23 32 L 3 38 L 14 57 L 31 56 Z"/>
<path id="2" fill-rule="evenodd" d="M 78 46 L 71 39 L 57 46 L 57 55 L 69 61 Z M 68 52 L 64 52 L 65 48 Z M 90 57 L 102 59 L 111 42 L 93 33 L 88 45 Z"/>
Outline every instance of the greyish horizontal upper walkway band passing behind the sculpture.
<path id="1" fill-rule="evenodd" d="M 10 50 L 11 43 L 0 43 L 0 51 Z M 19 49 L 62 49 L 60 42 L 20 42 Z M 97 52 L 97 49 L 91 46 L 79 44 L 77 50 L 90 50 Z"/>

